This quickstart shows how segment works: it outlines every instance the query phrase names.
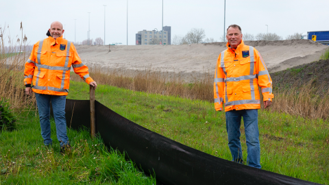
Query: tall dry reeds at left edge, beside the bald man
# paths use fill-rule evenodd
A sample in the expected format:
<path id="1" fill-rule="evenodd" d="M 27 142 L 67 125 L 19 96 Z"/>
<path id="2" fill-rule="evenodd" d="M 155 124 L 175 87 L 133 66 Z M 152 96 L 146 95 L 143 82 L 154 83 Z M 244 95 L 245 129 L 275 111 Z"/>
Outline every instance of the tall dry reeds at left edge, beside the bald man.
<path id="1" fill-rule="evenodd" d="M 13 110 L 21 110 L 27 105 L 35 104 L 34 97 L 25 95 L 23 84 L 24 64 L 29 56 L 29 53 L 25 53 L 27 38 L 23 36 L 22 24 L 22 36 L 17 40 L 12 40 L 10 36 L 5 37 L 6 29 L 9 27 L 0 27 L 0 97 L 8 101 Z M 9 48 L 8 53 L 5 45 Z"/>

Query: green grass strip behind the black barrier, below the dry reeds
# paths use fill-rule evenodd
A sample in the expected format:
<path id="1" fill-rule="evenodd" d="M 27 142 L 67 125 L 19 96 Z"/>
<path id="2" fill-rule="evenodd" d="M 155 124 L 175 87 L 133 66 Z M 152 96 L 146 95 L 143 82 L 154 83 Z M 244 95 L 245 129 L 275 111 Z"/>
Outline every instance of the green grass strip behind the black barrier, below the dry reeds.
<path id="1" fill-rule="evenodd" d="M 68 99 L 88 99 L 84 82 L 71 82 Z M 225 112 L 212 103 L 99 85 L 97 101 L 125 118 L 184 145 L 231 160 Z M 328 121 L 258 111 L 262 169 L 329 184 Z M 247 157 L 241 127 L 243 160 Z"/>

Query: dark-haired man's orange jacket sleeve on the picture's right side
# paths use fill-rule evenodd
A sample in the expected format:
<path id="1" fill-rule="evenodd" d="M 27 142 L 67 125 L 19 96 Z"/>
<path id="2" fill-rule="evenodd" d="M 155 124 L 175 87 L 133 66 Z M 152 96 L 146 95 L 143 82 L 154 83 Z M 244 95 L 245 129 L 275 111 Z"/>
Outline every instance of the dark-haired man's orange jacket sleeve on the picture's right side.
<path id="1" fill-rule="evenodd" d="M 272 93 L 272 79 L 269 76 L 269 71 L 267 71 L 267 67 L 265 62 L 260 56 L 260 53 L 254 49 L 256 56 L 256 73 L 258 76 L 258 86 L 262 88 L 263 101 L 272 101 L 274 95 Z"/>

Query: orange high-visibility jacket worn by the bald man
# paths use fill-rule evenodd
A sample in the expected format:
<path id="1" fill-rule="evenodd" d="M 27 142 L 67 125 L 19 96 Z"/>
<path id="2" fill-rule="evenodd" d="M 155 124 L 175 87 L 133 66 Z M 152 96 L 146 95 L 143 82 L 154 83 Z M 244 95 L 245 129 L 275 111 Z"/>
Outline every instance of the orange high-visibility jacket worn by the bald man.
<path id="1" fill-rule="evenodd" d="M 71 67 L 87 84 L 93 82 L 73 43 L 62 36 L 56 40 L 49 36 L 34 45 L 29 60 L 25 62 L 24 84 L 33 83 L 34 93 L 67 95 Z"/>

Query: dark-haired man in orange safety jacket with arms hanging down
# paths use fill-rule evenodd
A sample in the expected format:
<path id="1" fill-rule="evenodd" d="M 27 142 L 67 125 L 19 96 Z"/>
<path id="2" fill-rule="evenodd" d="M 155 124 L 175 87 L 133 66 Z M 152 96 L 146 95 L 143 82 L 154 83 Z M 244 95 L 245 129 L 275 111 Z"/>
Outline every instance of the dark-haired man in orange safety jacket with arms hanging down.
<path id="1" fill-rule="evenodd" d="M 241 117 L 245 125 L 247 143 L 247 164 L 260 166 L 260 144 L 258 132 L 258 109 L 263 93 L 265 108 L 271 106 L 273 98 L 272 81 L 260 53 L 251 46 L 244 45 L 241 27 L 230 25 L 226 39 L 228 49 L 219 54 L 215 70 L 214 97 L 215 110 L 226 112 L 226 130 L 232 161 L 243 163 L 240 142 Z"/>

